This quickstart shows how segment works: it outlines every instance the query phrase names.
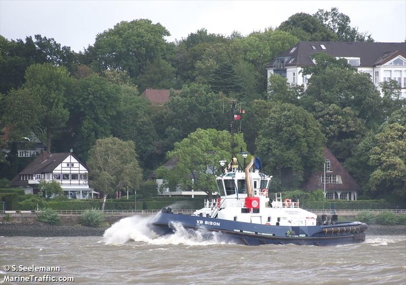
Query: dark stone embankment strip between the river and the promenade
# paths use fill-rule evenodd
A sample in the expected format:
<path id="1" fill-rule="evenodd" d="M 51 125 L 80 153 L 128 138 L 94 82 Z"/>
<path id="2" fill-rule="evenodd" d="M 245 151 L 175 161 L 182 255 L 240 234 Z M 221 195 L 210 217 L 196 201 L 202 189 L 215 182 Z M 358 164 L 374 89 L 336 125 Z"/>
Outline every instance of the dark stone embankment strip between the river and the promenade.
<path id="1" fill-rule="evenodd" d="M 103 236 L 109 227 L 53 226 L 42 223 L 0 222 L 0 236 Z M 368 225 L 366 235 L 406 235 L 406 225 Z"/>

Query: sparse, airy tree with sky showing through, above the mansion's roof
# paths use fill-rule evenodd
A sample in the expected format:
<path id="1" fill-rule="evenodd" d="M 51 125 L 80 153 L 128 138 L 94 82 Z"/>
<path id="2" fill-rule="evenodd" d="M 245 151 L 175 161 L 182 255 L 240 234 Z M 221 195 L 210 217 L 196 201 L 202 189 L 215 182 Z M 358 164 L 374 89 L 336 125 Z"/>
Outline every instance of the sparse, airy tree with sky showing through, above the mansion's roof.
<path id="1" fill-rule="evenodd" d="M 331 8 L 330 11 L 319 9 L 314 15 L 320 23 L 334 32 L 339 42 L 374 42 L 370 34 L 358 32 L 358 28 L 350 26 L 350 17 L 339 13 L 339 9 Z"/>

